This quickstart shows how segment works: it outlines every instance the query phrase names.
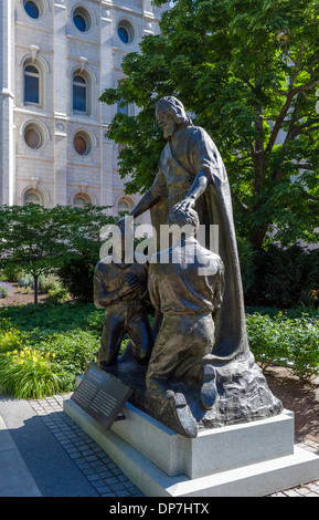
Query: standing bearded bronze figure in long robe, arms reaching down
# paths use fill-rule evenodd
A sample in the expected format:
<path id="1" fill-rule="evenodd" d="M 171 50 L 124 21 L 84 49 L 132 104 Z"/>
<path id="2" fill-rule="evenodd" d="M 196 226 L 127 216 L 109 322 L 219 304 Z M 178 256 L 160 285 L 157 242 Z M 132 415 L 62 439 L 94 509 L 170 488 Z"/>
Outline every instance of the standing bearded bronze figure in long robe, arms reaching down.
<path id="1" fill-rule="evenodd" d="M 216 363 L 248 353 L 243 288 L 233 221 L 231 190 L 221 155 L 209 134 L 194 126 L 182 103 L 173 96 L 157 103 L 156 116 L 168 139 L 156 179 L 131 211 L 138 217 L 150 209 L 151 222 L 160 236 L 173 208 L 192 207 L 205 225 L 209 247 L 210 225 L 219 226 L 219 251 L 225 270 L 223 306 L 215 316 Z"/>

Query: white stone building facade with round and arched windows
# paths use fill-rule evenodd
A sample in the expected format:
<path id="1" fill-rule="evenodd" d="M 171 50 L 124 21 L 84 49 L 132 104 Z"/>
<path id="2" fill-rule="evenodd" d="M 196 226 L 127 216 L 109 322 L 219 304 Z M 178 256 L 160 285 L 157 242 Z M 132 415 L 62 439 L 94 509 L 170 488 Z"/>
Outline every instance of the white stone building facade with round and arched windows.
<path id="1" fill-rule="evenodd" d="M 28 8 L 38 9 L 38 18 Z M 85 31 L 76 27 L 76 13 Z M 30 197 L 45 207 L 84 200 L 113 206 L 117 215 L 119 204 L 131 208 L 138 201 L 138 195 L 124 196 L 118 145 L 105 137 L 117 106 L 98 97 L 123 77 L 126 53 L 138 52 L 141 38 L 159 31 L 160 13 L 151 0 L 1 0 L 1 205 L 23 205 Z M 26 101 L 26 67 L 36 72 L 35 103 Z M 85 82 L 84 112 L 74 110 L 77 74 Z M 26 144 L 30 131 L 39 138 L 33 147 Z M 85 139 L 85 154 L 75 150 L 75 136 Z"/>

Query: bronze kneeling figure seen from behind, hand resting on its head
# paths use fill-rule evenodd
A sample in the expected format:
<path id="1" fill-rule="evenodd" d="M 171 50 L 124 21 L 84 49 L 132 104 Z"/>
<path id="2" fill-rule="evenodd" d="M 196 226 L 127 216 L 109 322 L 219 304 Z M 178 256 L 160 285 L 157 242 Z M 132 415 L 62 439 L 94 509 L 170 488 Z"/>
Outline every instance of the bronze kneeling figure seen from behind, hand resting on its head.
<path id="1" fill-rule="evenodd" d="M 148 289 L 155 309 L 163 319 L 146 374 L 147 389 L 161 394 L 171 378 L 201 387 L 201 404 L 213 406 L 215 371 L 212 351 L 215 339 L 213 314 L 221 308 L 224 266 L 221 258 L 200 246 L 194 210 L 174 210 L 169 223 L 190 226 L 189 236 L 159 251 L 151 260 Z M 202 272 L 202 270 L 204 270 Z M 163 386 L 163 392 L 166 391 Z M 209 388 L 211 387 L 211 392 Z"/>

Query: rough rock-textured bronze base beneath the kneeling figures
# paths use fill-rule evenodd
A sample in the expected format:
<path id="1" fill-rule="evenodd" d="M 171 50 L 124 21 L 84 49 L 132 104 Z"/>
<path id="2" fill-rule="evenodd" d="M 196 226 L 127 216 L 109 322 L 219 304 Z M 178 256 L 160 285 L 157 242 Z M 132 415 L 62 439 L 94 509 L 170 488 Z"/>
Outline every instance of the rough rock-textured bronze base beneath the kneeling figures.
<path id="1" fill-rule="evenodd" d="M 132 388 L 129 402 L 134 406 L 185 437 L 195 437 L 198 431 L 216 427 L 270 418 L 279 415 L 284 408 L 281 402 L 270 392 L 249 351 L 232 362 L 221 365 L 212 363 L 216 373 L 216 401 L 211 409 L 204 409 L 201 405 L 200 386 L 191 387 L 180 381 L 167 381 L 167 389 L 185 397 L 189 414 L 182 419 L 177 418 L 167 406 L 168 399 L 147 392 L 147 366 L 137 362 L 129 346 L 111 366 L 102 368 L 92 362 L 86 366 L 103 371 Z"/>

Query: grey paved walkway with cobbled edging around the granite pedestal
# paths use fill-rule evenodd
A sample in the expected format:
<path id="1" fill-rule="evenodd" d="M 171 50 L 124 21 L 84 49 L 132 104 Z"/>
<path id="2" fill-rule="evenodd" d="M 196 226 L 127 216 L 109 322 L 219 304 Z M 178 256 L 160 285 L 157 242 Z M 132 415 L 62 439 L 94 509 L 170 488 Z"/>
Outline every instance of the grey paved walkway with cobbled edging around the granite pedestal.
<path id="1" fill-rule="evenodd" d="M 0 396 L 0 497 L 143 497 L 64 414 L 64 398 Z M 319 455 L 316 443 L 296 443 Z M 319 497 L 319 480 L 272 497 Z"/>

